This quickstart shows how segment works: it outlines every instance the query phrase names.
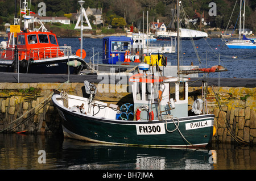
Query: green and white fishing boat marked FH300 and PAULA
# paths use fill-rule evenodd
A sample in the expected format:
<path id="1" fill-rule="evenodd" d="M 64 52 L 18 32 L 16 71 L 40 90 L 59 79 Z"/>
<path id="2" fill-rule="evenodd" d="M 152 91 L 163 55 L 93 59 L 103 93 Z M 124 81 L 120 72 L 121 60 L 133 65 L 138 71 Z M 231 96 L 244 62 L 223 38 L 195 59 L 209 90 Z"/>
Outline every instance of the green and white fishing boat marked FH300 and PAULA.
<path id="1" fill-rule="evenodd" d="M 179 73 L 179 53 L 177 57 Z M 188 115 L 189 79 L 179 74 L 164 77 L 145 63 L 138 68 L 139 73 L 129 78 L 133 100 L 121 107 L 94 100 L 97 87 L 87 81 L 84 83 L 89 98 L 56 92 L 52 102 L 62 119 L 64 136 L 127 146 L 208 145 L 215 132 L 214 115 L 204 111 L 200 100 L 193 107 L 195 114 Z"/>

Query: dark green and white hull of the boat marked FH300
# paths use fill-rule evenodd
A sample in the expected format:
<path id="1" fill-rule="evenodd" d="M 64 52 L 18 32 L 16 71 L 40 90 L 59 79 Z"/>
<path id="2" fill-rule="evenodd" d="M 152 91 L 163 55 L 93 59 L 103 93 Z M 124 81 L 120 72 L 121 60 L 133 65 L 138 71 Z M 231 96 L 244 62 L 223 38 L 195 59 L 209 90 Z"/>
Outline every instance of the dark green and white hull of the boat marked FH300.
<path id="1" fill-rule="evenodd" d="M 79 100 L 86 98 L 72 96 Z M 116 120 L 108 116 L 93 116 L 90 113 L 74 112 L 63 106 L 60 95 L 52 101 L 62 118 L 64 136 L 104 144 L 188 147 L 206 146 L 213 136 L 214 115 L 197 115 L 163 120 Z M 69 103 L 72 101 L 69 101 Z M 109 107 L 106 107 L 108 109 Z M 85 107 L 85 110 L 89 110 Z M 105 113 L 113 114 L 112 108 Z M 95 110 L 96 111 L 96 110 Z"/>

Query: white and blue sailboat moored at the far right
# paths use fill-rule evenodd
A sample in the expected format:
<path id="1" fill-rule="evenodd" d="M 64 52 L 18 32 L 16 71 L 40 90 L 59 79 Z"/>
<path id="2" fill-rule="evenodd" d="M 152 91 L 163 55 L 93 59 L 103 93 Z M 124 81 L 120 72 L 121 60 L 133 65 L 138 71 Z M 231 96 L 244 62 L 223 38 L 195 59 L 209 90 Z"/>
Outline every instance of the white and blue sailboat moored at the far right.
<path id="1" fill-rule="evenodd" d="M 245 32 L 245 0 L 242 3 L 240 1 L 240 24 L 239 24 L 239 39 L 237 40 L 225 40 L 226 45 L 230 49 L 256 49 L 256 39 L 249 39 L 245 35 L 243 35 L 241 39 L 241 12 L 243 6 L 243 33 Z M 236 28 L 236 27 L 234 27 Z"/>

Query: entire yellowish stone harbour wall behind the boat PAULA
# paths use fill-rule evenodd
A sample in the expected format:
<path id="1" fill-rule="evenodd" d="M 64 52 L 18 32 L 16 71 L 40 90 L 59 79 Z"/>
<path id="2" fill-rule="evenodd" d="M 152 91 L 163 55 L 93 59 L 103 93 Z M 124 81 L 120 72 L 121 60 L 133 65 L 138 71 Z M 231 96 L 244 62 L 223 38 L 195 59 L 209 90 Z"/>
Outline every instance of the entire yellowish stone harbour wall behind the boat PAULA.
<path id="1" fill-rule="evenodd" d="M 113 89 L 113 85 L 109 89 Z M 84 83 L 0 83 L 0 132 L 61 133 L 60 117 L 53 106 L 53 89 L 84 96 Z M 97 92 L 95 99 L 121 106 L 131 93 Z M 201 98 L 201 87 L 189 87 L 188 111 Z M 207 111 L 213 113 L 217 142 L 256 144 L 256 88 L 207 87 Z M 205 109 L 206 110 L 206 109 Z"/>

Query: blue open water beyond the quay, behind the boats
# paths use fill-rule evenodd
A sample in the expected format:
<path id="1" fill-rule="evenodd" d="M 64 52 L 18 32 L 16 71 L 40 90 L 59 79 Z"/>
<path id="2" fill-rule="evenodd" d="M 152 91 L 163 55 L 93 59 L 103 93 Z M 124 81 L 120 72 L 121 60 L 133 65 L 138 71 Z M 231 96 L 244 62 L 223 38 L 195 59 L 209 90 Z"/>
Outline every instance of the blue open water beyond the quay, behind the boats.
<path id="1" fill-rule="evenodd" d="M 58 39 L 59 45 L 72 46 L 73 52 L 80 49 L 78 39 Z M 90 57 L 100 52 L 102 63 L 102 39 L 84 39 L 84 49 L 89 62 Z M 170 44 L 168 41 L 151 41 L 151 44 Z M 255 78 L 256 77 L 256 50 L 255 49 L 229 49 L 221 39 L 200 39 L 195 41 L 181 41 L 180 65 L 198 65 L 200 68 L 210 68 L 214 65 L 222 65 L 228 71 L 221 72 L 223 78 Z M 165 54 L 171 65 L 177 65 L 177 53 Z M 93 58 L 91 59 L 93 60 Z M 94 57 L 97 62 L 97 56 Z M 251 71 L 253 70 L 253 71 Z M 203 74 L 199 75 L 200 77 Z M 218 73 L 212 73 L 209 77 L 218 77 Z"/>

